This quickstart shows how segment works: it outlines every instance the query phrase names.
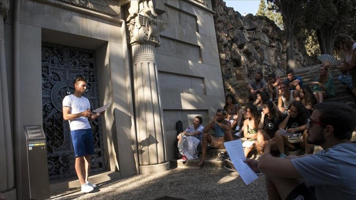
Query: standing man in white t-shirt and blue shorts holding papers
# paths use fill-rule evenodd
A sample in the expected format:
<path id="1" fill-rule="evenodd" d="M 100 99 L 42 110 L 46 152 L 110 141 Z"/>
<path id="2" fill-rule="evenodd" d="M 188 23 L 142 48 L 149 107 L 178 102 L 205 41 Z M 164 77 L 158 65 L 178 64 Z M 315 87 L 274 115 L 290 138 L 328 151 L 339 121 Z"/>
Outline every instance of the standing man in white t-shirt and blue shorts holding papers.
<path id="1" fill-rule="evenodd" d="M 63 99 L 63 119 L 69 120 L 70 135 L 75 154 L 75 171 L 82 185 L 82 192 L 89 193 L 96 185 L 88 181 L 90 169 L 90 157 L 94 154 L 93 132 L 89 120 L 95 120 L 104 115 L 105 111 L 93 114 L 90 110 L 90 102 L 82 96 L 87 89 L 87 81 L 83 77 L 77 77 L 73 81 L 74 93 Z"/>

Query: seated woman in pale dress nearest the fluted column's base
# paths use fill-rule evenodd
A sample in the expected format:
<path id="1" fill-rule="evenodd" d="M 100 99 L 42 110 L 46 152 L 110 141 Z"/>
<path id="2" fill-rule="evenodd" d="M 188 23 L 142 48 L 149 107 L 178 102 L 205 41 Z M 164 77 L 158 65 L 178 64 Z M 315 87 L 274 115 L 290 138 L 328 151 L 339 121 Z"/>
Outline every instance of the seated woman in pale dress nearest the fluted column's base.
<path id="1" fill-rule="evenodd" d="M 178 150 L 182 154 L 182 160 L 192 160 L 198 158 L 197 147 L 203 139 L 204 127 L 201 126 L 203 118 L 196 116 L 193 120 L 193 125 L 188 126 L 182 133 L 177 136 Z"/>

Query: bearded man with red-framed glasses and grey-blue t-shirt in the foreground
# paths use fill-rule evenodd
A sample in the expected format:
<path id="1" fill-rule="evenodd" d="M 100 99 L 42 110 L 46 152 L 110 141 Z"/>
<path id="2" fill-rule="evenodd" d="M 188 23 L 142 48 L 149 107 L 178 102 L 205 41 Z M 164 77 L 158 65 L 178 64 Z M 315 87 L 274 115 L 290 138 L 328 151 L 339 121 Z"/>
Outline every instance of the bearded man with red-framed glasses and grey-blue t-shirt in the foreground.
<path id="1" fill-rule="evenodd" d="M 356 143 L 350 141 L 354 110 L 345 103 L 322 102 L 307 125 L 307 142 L 324 150 L 282 159 L 271 155 L 269 142 L 258 161 L 245 161 L 266 174 L 268 199 L 356 199 Z"/>

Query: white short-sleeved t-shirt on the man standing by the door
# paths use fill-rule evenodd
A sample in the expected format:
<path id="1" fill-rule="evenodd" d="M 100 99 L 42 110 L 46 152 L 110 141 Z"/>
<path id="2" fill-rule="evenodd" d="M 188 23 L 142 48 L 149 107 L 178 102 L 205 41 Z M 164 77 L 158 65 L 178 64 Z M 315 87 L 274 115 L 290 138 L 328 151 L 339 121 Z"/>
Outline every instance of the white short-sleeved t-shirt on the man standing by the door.
<path id="1" fill-rule="evenodd" d="M 70 114 L 77 114 L 79 112 L 90 109 L 90 102 L 87 98 L 84 96 L 78 98 L 73 94 L 65 96 L 62 104 L 63 107 L 70 107 Z M 69 126 L 71 131 L 91 128 L 88 117 L 83 116 L 69 120 Z"/>

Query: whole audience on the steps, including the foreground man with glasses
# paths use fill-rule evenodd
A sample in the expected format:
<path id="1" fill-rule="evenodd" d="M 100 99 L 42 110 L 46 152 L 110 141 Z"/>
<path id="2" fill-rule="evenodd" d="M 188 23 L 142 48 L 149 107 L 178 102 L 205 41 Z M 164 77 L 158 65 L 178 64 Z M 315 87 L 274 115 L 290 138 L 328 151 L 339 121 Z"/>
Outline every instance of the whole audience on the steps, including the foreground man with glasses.
<path id="1" fill-rule="evenodd" d="M 269 199 L 355 199 L 356 175 L 350 172 L 356 168 L 356 143 L 350 139 L 356 115 L 345 103 L 323 101 L 335 97 L 331 68 L 341 70 L 338 79 L 356 94 L 356 43 L 341 34 L 334 45 L 344 62 L 322 63 L 309 85 L 303 85 L 293 70 L 283 81 L 268 74 L 268 83 L 257 72 L 255 81 L 247 85 L 253 103 L 246 109 L 228 94 L 224 108 L 205 127 L 203 119 L 195 117 L 193 125 L 177 137 L 183 161 L 197 159 L 201 149 L 198 166 L 202 166 L 209 146 L 224 148 L 224 142 L 243 137 L 245 163 L 256 174 L 266 174 Z M 324 150 L 313 154 L 313 144 Z M 286 149 L 299 148 L 303 155 L 287 156 Z M 251 152 L 258 154 L 255 159 L 248 159 Z M 234 170 L 226 158 L 227 168 Z"/>

